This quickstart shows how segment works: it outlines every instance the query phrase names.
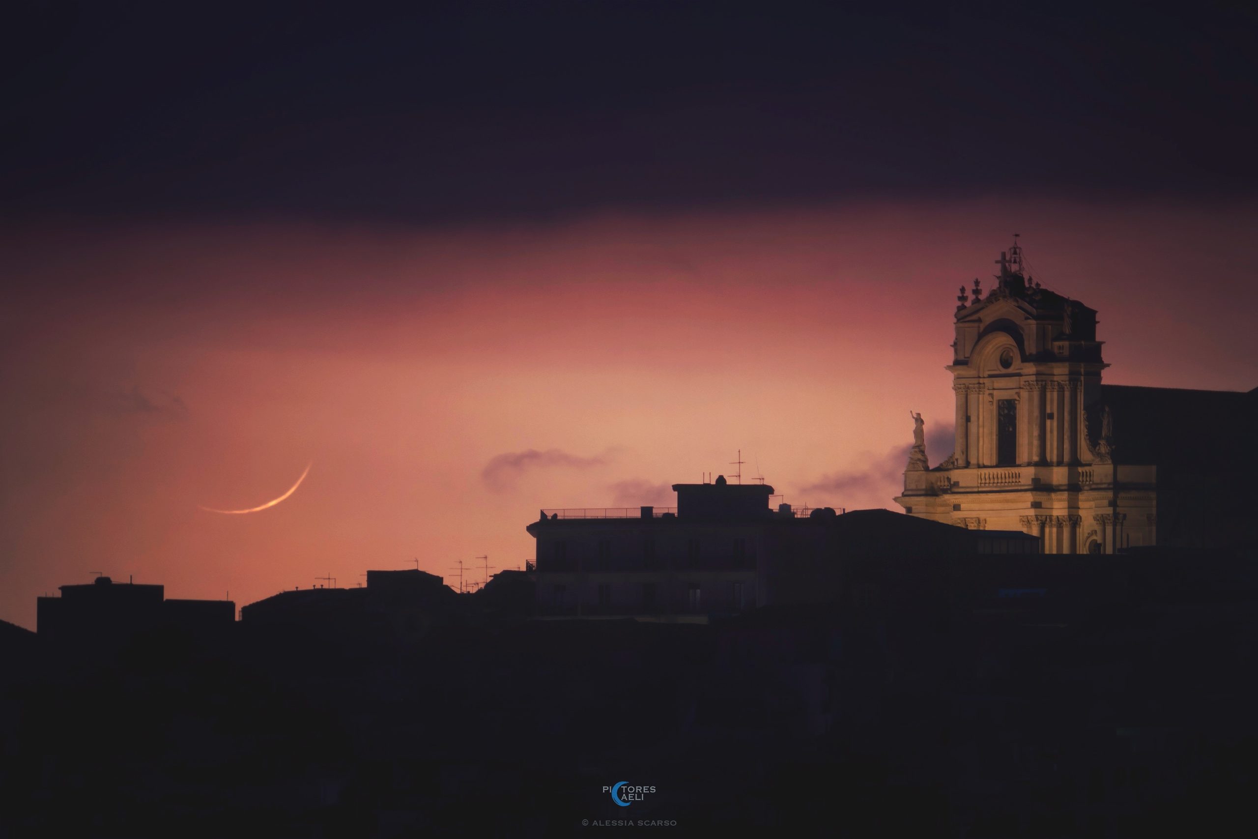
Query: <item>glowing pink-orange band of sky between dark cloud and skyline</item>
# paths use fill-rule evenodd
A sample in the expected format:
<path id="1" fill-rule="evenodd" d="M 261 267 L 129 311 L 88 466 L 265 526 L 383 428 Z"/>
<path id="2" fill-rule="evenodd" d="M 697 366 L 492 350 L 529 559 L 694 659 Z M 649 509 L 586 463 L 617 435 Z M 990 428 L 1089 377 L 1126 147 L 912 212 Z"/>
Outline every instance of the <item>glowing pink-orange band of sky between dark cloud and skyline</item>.
<path id="1" fill-rule="evenodd" d="M 988 284 L 1014 230 L 1037 279 L 1099 311 L 1107 381 L 1248 390 L 1255 215 L 975 200 L 10 230 L 0 618 L 33 628 L 36 595 L 88 571 L 243 605 L 411 557 L 447 581 L 482 553 L 515 567 L 540 507 L 667 504 L 658 487 L 731 473 L 740 448 L 786 501 L 892 506 L 907 410 L 951 421 L 957 287 Z M 274 508 L 199 509 L 260 504 L 309 462 Z"/>

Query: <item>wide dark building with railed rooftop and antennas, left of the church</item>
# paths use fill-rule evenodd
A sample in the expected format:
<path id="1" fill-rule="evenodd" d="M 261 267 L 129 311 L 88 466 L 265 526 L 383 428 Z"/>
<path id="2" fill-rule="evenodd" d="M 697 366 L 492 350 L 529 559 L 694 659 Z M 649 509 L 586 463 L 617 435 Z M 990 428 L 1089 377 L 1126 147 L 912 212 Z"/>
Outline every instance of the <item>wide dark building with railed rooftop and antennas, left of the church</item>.
<path id="1" fill-rule="evenodd" d="M 833 600 L 855 556 L 1038 553 L 1020 532 L 970 532 L 889 511 L 774 511 L 774 488 L 673 484 L 677 508 L 543 509 L 540 616 L 706 621 L 756 606 Z"/>

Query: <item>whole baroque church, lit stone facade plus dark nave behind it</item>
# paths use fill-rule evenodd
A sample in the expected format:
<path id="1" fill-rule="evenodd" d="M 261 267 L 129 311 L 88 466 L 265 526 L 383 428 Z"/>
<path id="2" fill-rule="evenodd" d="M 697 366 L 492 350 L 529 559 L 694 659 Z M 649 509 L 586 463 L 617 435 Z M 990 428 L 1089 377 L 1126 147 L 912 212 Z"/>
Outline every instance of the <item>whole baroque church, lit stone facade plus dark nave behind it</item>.
<path id="1" fill-rule="evenodd" d="M 1252 423 L 1248 392 L 1102 384 L 1097 312 L 1001 253 L 984 296 L 955 313 L 952 454 L 930 467 L 922 419 L 896 502 L 912 516 L 1039 536 L 1045 553 L 1252 545 L 1258 463 L 1224 429 Z M 1252 472 L 1248 472 L 1252 474 Z"/>

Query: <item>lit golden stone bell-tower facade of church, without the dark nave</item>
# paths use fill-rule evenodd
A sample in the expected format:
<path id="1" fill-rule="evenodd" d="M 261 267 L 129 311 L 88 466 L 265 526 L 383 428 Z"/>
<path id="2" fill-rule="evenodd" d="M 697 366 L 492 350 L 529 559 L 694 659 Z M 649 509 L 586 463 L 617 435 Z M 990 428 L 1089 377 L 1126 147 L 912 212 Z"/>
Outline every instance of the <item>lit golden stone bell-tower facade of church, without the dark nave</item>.
<path id="1" fill-rule="evenodd" d="M 1141 494 L 1140 475 L 1123 475 L 1133 479 L 1125 486 L 1110 457 L 1106 416 L 1094 408 L 1107 366 L 1097 313 L 1042 288 L 1016 234 L 996 265 L 986 294 L 975 279 L 957 296 L 946 367 L 952 454 L 931 468 L 915 445 L 896 501 L 923 518 L 1038 535 L 1049 553 L 1113 552 L 1131 543 L 1125 513 L 1140 512 L 1142 523 L 1144 507 L 1152 511 L 1152 474 Z M 1151 543 L 1152 533 L 1136 540 Z"/>

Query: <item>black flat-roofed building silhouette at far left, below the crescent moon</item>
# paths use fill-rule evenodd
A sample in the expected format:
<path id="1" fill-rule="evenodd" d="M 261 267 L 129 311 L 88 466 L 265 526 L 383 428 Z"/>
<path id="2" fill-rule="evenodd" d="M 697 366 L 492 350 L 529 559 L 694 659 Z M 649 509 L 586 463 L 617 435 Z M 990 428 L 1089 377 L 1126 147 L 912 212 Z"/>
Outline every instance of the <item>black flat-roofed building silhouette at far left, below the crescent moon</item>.
<path id="1" fill-rule="evenodd" d="M 230 600 L 165 600 L 160 585 L 114 582 L 99 576 L 58 587 L 59 597 L 36 600 L 39 636 L 59 642 L 117 640 L 157 628 L 218 631 L 235 621 Z"/>

